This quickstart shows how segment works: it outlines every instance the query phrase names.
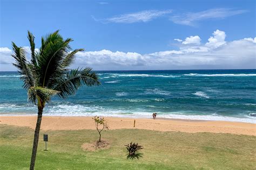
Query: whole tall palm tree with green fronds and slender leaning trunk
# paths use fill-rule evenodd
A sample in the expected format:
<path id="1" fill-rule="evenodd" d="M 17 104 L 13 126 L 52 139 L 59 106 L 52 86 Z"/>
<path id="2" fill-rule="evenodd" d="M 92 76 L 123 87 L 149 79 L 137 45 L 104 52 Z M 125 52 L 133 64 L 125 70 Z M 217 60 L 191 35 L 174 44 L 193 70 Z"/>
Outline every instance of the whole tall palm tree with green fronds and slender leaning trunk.
<path id="1" fill-rule="evenodd" d="M 31 60 L 28 61 L 25 49 L 18 47 L 12 42 L 17 67 L 23 88 L 28 91 L 28 100 L 37 105 L 37 123 L 33 140 L 33 148 L 30 169 L 34 169 L 37 153 L 39 131 L 43 116 L 45 103 L 52 96 L 66 98 L 75 95 L 79 87 L 98 86 L 100 84 L 98 75 L 89 67 L 85 69 L 68 69 L 75 59 L 75 54 L 84 49 L 79 48 L 72 51 L 69 43 L 72 39 L 63 39 L 59 31 L 55 31 L 42 37 L 42 46 L 35 50 L 35 37 L 28 31 L 28 39 L 31 49 Z"/>

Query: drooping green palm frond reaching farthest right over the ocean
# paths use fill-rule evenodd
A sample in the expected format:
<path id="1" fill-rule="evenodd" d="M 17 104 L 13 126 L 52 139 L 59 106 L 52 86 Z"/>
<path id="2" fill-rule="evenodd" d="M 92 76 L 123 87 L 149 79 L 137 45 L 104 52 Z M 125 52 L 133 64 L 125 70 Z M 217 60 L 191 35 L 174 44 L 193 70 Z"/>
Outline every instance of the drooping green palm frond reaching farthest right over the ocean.
<path id="1" fill-rule="evenodd" d="M 55 90 L 60 91 L 59 97 L 66 98 L 76 94 L 79 87 L 86 86 L 99 86 L 98 75 L 89 67 L 85 69 L 71 69 L 66 74 L 66 78 L 59 82 Z"/>

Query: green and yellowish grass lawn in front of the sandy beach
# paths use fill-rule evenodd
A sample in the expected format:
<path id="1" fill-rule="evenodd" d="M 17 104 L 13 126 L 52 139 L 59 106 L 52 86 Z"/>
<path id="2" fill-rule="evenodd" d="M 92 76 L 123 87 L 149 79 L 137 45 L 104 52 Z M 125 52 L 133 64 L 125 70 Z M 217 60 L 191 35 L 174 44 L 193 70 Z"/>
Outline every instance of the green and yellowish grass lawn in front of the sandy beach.
<path id="1" fill-rule="evenodd" d="M 49 136 L 43 151 L 43 134 Z M 41 131 L 36 169 L 255 169 L 256 137 L 222 133 L 122 129 L 103 133 L 110 148 L 83 151 L 96 130 Z M 0 169 L 29 169 L 33 130 L 0 125 Z M 144 146 L 140 159 L 126 159 L 125 144 Z"/>

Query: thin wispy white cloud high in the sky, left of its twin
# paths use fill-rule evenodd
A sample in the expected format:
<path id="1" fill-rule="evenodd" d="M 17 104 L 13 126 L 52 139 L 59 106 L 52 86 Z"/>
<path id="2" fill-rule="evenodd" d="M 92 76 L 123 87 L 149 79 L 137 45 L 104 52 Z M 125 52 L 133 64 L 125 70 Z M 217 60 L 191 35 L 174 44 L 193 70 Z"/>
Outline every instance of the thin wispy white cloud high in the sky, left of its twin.
<path id="1" fill-rule="evenodd" d="M 137 22 L 149 22 L 154 18 L 164 16 L 167 13 L 171 13 L 171 12 L 172 12 L 171 10 L 164 10 L 164 11 L 146 10 L 146 11 L 126 13 L 123 15 L 114 16 L 111 18 L 104 19 L 104 21 L 111 22 L 111 23 L 126 23 L 126 24 L 137 23 Z"/>

